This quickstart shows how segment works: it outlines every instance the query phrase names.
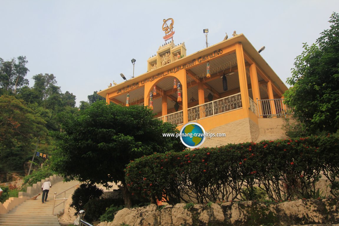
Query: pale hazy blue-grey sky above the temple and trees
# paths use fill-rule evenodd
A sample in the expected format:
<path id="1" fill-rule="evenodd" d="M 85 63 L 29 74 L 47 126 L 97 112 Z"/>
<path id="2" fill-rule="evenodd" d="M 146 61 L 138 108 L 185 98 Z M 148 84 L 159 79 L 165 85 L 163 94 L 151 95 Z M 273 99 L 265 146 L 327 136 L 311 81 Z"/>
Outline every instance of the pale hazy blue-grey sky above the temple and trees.
<path id="1" fill-rule="evenodd" d="M 174 42 L 185 42 L 187 55 L 225 32 L 243 33 L 286 83 L 302 43 L 313 43 L 328 29 L 338 0 L 284 1 L 108 1 L 0 0 L 0 57 L 26 56 L 27 77 L 54 74 L 62 92 L 77 105 L 93 91 L 147 71 L 147 59 L 164 43 L 163 19 L 174 19 Z"/>

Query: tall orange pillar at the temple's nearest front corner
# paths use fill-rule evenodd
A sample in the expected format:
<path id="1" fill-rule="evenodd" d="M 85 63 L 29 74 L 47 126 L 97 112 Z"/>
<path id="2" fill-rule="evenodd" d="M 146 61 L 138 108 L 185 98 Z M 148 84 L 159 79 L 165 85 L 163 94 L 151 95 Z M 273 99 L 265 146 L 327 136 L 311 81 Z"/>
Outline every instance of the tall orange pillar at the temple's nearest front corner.
<path id="1" fill-rule="evenodd" d="M 250 104 L 248 100 L 245 60 L 244 60 L 242 44 L 237 42 L 235 49 L 236 49 L 237 62 L 238 62 L 238 74 L 239 74 L 239 85 L 240 85 L 242 109 L 244 110 L 245 115 L 249 116 L 250 115 L 250 109 L 249 109 Z"/>

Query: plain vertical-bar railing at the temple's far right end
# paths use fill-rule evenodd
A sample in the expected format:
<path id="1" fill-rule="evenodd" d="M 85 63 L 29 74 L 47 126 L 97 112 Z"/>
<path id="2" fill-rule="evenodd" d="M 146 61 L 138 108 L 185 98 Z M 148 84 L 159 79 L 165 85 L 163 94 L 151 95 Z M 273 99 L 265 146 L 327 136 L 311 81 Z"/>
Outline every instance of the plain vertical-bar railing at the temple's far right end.
<path id="1" fill-rule="evenodd" d="M 286 118 L 287 115 L 294 114 L 283 102 L 284 99 L 257 99 L 259 118 Z"/>

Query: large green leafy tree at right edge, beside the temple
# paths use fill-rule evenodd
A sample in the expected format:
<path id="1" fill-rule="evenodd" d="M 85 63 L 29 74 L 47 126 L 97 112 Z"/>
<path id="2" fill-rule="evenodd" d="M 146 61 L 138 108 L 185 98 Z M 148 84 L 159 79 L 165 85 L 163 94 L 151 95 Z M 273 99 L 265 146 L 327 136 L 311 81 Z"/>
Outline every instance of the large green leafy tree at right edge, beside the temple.
<path id="1" fill-rule="evenodd" d="M 292 107 L 301 125 L 308 131 L 336 132 L 339 129 L 339 16 L 330 17 L 330 29 L 312 45 L 303 43 L 297 56 L 292 87 L 285 94 L 285 103 Z"/>

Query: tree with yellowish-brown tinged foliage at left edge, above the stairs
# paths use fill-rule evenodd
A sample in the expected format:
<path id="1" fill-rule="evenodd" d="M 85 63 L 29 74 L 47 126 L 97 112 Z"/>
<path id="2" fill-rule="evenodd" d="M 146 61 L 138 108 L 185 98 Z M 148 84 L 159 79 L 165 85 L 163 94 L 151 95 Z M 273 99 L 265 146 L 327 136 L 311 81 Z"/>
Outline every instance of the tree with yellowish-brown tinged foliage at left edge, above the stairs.
<path id="1" fill-rule="evenodd" d="M 22 170 L 37 138 L 47 133 L 45 121 L 23 100 L 0 96 L 0 159 L 4 170 Z"/>

